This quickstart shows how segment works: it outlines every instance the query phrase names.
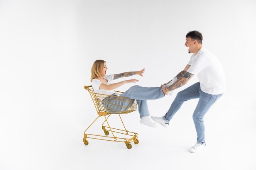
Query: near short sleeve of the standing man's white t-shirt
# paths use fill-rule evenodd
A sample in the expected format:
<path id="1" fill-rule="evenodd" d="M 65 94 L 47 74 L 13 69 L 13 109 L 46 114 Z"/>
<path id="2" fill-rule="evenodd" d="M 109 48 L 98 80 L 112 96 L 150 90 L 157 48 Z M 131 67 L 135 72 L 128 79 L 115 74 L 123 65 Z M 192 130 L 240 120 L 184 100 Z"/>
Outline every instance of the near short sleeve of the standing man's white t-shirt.
<path id="1" fill-rule="evenodd" d="M 202 58 L 196 58 L 187 70 L 187 72 L 197 75 L 198 73 L 200 73 L 200 71 L 207 67 L 208 64 L 209 62 L 207 62 L 207 60 L 204 60 Z"/>

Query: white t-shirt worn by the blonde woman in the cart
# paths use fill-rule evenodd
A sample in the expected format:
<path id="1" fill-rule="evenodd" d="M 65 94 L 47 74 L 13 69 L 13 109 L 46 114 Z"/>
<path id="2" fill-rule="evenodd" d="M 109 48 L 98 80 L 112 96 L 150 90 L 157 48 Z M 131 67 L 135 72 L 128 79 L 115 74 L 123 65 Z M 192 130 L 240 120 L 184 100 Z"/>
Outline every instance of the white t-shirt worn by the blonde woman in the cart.
<path id="1" fill-rule="evenodd" d="M 111 82 L 114 80 L 114 75 L 106 75 L 104 77 L 106 80 L 108 80 L 107 85 L 111 84 Z M 105 94 L 105 95 L 112 95 L 113 93 L 115 93 L 115 91 L 108 91 L 108 90 L 104 90 L 104 89 L 99 89 L 99 86 L 101 85 L 101 81 L 99 81 L 98 79 L 92 79 L 92 88 L 94 90 L 95 93 L 99 93 L 99 94 Z"/>

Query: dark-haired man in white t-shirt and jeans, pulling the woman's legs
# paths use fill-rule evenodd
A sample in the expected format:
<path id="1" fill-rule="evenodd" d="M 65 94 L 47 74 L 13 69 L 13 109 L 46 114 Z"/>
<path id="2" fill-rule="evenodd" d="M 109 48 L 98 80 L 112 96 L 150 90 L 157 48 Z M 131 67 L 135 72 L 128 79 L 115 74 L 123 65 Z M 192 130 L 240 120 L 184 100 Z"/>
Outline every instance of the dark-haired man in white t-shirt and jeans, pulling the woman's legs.
<path id="1" fill-rule="evenodd" d="M 191 147 L 190 152 L 198 152 L 205 148 L 204 115 L 225 92 L 225 75 L 222 66 L 218 59 L 202 46 L 202 40 L 202 34 L 198 31 L 187 33 L 185 46 L 189 48 L 189 53 L 193 53 L 193 55 L 184 70 L 176 76 L 177 81 L 171 86 L 165 87 L 164 93 L 167 95 L 169 91 L 183 86 L 193 75 L 198 75 L 199 82 L 180 91 L 163 117 L 152 116 L 154 121 L 168 127 L 169 121 L 185 101 L 199 98 L 193 113 L 197 143 Z"/>

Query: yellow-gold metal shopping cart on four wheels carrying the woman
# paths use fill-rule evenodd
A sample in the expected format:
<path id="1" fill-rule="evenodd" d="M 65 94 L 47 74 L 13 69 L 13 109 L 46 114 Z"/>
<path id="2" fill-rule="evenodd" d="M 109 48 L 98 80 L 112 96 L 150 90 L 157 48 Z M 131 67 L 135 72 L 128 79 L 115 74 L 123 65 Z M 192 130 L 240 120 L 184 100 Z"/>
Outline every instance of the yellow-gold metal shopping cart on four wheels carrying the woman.
<path id="1" fill-rule="evenodd" d="M 103 135 L 94 135 L 85 133 L 90 126 L 84 131 L 83 143 L 88 145 L 89 139 L 100 139 L 105 141 L 115 141 L 115 142 L 124 142 L 128 149 L 132 148 L 130 143 L 134 142 L 134 144 L 139 144 L 138 133 L 130 132 L 126 130 L 124 126 L 124 122 L 121 119 L 120 114 L 131 113 L 137 110 L 137 103 L 134 99 L 129 99 L 127 97 L 120 97 L 123 92 L 115 91 L 115 95 L 104 95 L 99 93 L 94 93 L 92 86 L 84 86 L 84 88 L 90 93 L 92 97 L 93 104 L 97 110 L 98 117 L 92 122 L 92 124 L 101 116 L 105 117 L 105 121 L 102 124 L 102 130 L 106 136 Z M 111 128 L 108 122 L 108 118 L 110 115 L 119 115 L 121 122 L 124 126 L 124 129 Z M 107 123 L 105 126 L 104 123 Z M 111 132 L 111 137 L 108 136 L 109 132 Z M 117 137 L 116 135 L 121 134 L 122 137 Z"/>

